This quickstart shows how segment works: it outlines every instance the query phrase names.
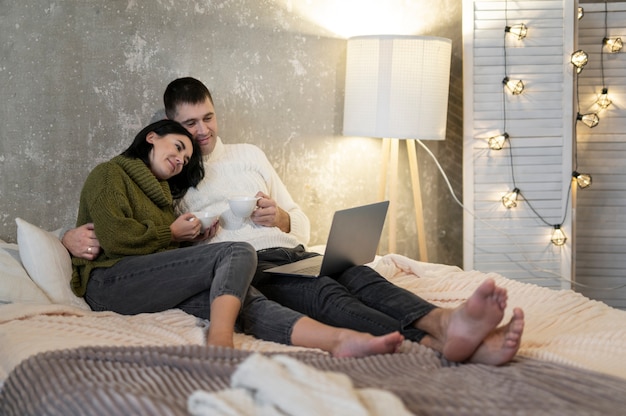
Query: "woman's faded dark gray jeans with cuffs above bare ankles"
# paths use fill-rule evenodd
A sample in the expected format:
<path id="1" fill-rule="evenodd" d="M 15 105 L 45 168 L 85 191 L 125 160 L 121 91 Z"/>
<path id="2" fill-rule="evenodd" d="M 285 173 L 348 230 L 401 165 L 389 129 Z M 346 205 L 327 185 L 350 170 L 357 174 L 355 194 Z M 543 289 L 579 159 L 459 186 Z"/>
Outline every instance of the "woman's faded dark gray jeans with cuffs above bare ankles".
<path id="1" fill-rule="evenodd" d="M 303 314 L 249 288 L 256 266 L 252 246 L 239 242 L 132 256 L 112 267 L 94 269 L 85 301 L 94 311 L 134 315 L 178 308 L 210 319 L 213 299 L 229 294 L 243 302 L 239 329 L 260 339 L 291 344 L 293 327 Z"/>

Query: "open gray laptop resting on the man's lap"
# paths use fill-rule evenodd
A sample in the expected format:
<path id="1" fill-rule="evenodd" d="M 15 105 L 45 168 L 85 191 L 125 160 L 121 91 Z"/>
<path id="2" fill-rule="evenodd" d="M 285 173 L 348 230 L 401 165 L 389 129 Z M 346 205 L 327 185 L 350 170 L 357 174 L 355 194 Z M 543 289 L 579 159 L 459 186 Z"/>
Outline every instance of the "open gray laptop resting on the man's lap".
<path id="1" fill-rule="evenodd" d="M 323 256 L 272 267 L 265 272 L 316 278 L 371 262 L 376 257 L 388 208 L 389 201 L 383 201 L 336 211 Z"/>

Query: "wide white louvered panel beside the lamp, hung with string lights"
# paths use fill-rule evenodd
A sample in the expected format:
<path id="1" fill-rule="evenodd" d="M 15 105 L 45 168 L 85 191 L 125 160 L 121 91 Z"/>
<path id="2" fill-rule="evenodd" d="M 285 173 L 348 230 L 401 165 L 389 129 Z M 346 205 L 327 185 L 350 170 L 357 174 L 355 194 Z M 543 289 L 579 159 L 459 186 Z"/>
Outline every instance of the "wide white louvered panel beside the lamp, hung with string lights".
<path id="1" fill-rule="evenodd" d="M 574 15 L 567 0 L 464 1 L 466 269 L 569 287 L 572 240 L 556 247 L 550 236 L 554 224 L 572 232 Z M 528 27 L 523 40 L 505 36 L 516 23 Z M 503 94 L 505 76 L 524 92 Z M 504 149 L 490 150 L 486 139 L 503 131 Z M 514 185 L 526 200 L 508 210 L 500 199 Z"/>

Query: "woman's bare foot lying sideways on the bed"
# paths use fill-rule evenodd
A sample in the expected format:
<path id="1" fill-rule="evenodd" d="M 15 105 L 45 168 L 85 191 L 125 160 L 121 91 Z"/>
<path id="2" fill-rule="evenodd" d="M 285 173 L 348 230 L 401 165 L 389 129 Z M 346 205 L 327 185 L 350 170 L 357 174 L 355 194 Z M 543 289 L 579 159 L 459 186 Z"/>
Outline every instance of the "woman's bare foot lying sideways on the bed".
<path id="1" fill-rule="evenodd" d="M 333 357 L 367 357 L 376 354 L 391 354 L 398 351 L 402 341 L 404 341 L 404 336 L 398 331 L 375 337 L 363 332 L 345 330 L 330 353 Z"/>

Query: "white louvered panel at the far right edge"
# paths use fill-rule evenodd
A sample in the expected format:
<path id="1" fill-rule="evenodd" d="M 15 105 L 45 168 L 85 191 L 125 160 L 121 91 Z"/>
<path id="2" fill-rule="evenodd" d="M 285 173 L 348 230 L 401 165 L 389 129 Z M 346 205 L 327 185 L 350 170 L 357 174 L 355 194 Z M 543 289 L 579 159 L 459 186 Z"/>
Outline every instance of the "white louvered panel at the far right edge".
<path id="1" fill-rule="evenodd" d="M 579 76 L 580 110 L 597 112 L 600 123 L 577 125 L 578 171 L 593 177 L 576 193 L 577 290 L 626 309 L 626 51 L 604 54 L 604 85 L 613 105 L 595 104 L 602 89 L 602 39 L 626 41 L 626 2 L 583 4 L 579 48 L 589 63 Z M 606 16 L 606 27 L 605 27 Z M 606 51 L 606 49 L 605 49 Z"/>

